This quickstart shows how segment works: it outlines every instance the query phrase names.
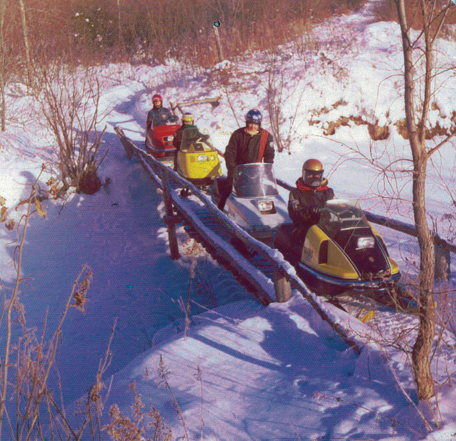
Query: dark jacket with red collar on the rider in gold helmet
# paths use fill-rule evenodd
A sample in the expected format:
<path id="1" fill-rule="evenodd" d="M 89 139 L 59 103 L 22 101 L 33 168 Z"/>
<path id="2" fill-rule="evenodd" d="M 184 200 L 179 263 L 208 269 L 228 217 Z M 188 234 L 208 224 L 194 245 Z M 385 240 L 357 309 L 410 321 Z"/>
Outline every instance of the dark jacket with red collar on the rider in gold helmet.
<path id="1" fill-rule="evenodd" d="M 326 201 L 334 199 L 334 191 L 327 184 L 325 178 L 320 187 L 313 189 L 304 184 L 302 178 L 296 181 L 296 188 L 290 191 L 288 198 L 288 215 L 295 225 L 318 223 L 319 209 Z"/>

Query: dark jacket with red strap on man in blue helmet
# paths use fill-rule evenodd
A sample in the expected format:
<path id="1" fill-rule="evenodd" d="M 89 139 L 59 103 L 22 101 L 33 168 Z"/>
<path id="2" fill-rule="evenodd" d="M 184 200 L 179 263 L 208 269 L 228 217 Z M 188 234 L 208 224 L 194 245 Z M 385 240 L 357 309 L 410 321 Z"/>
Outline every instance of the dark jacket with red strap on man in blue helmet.
<path id="1" fill-rule="evenodd" d="M 263 157 L 260 156 L 261 135 L 267 135 Z M 228 179 L 233 183 L 234 169 L 239 164 L 250 163 L 274 163 L 274 143 L 271 134 L 264 129 L 259 130 L 256 135 L 249 135 L 246 127 L 233 132 L 228 146 L 225 149 L 225 163 L 228 170 Z"/>

